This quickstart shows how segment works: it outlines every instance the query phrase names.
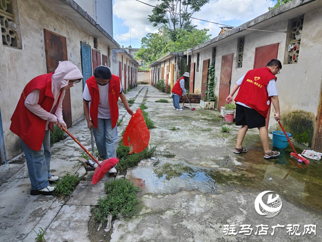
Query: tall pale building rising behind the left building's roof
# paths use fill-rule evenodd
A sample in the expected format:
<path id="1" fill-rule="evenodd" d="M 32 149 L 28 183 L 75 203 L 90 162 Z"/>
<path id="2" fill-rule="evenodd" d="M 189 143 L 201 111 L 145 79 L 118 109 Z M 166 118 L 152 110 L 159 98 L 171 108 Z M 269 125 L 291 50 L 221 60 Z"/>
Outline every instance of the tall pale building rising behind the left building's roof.
<path id="1" fill-rule="evenodd" d="M 112 0 L 75 0 L 109 35 L 113 36 Z"/>

